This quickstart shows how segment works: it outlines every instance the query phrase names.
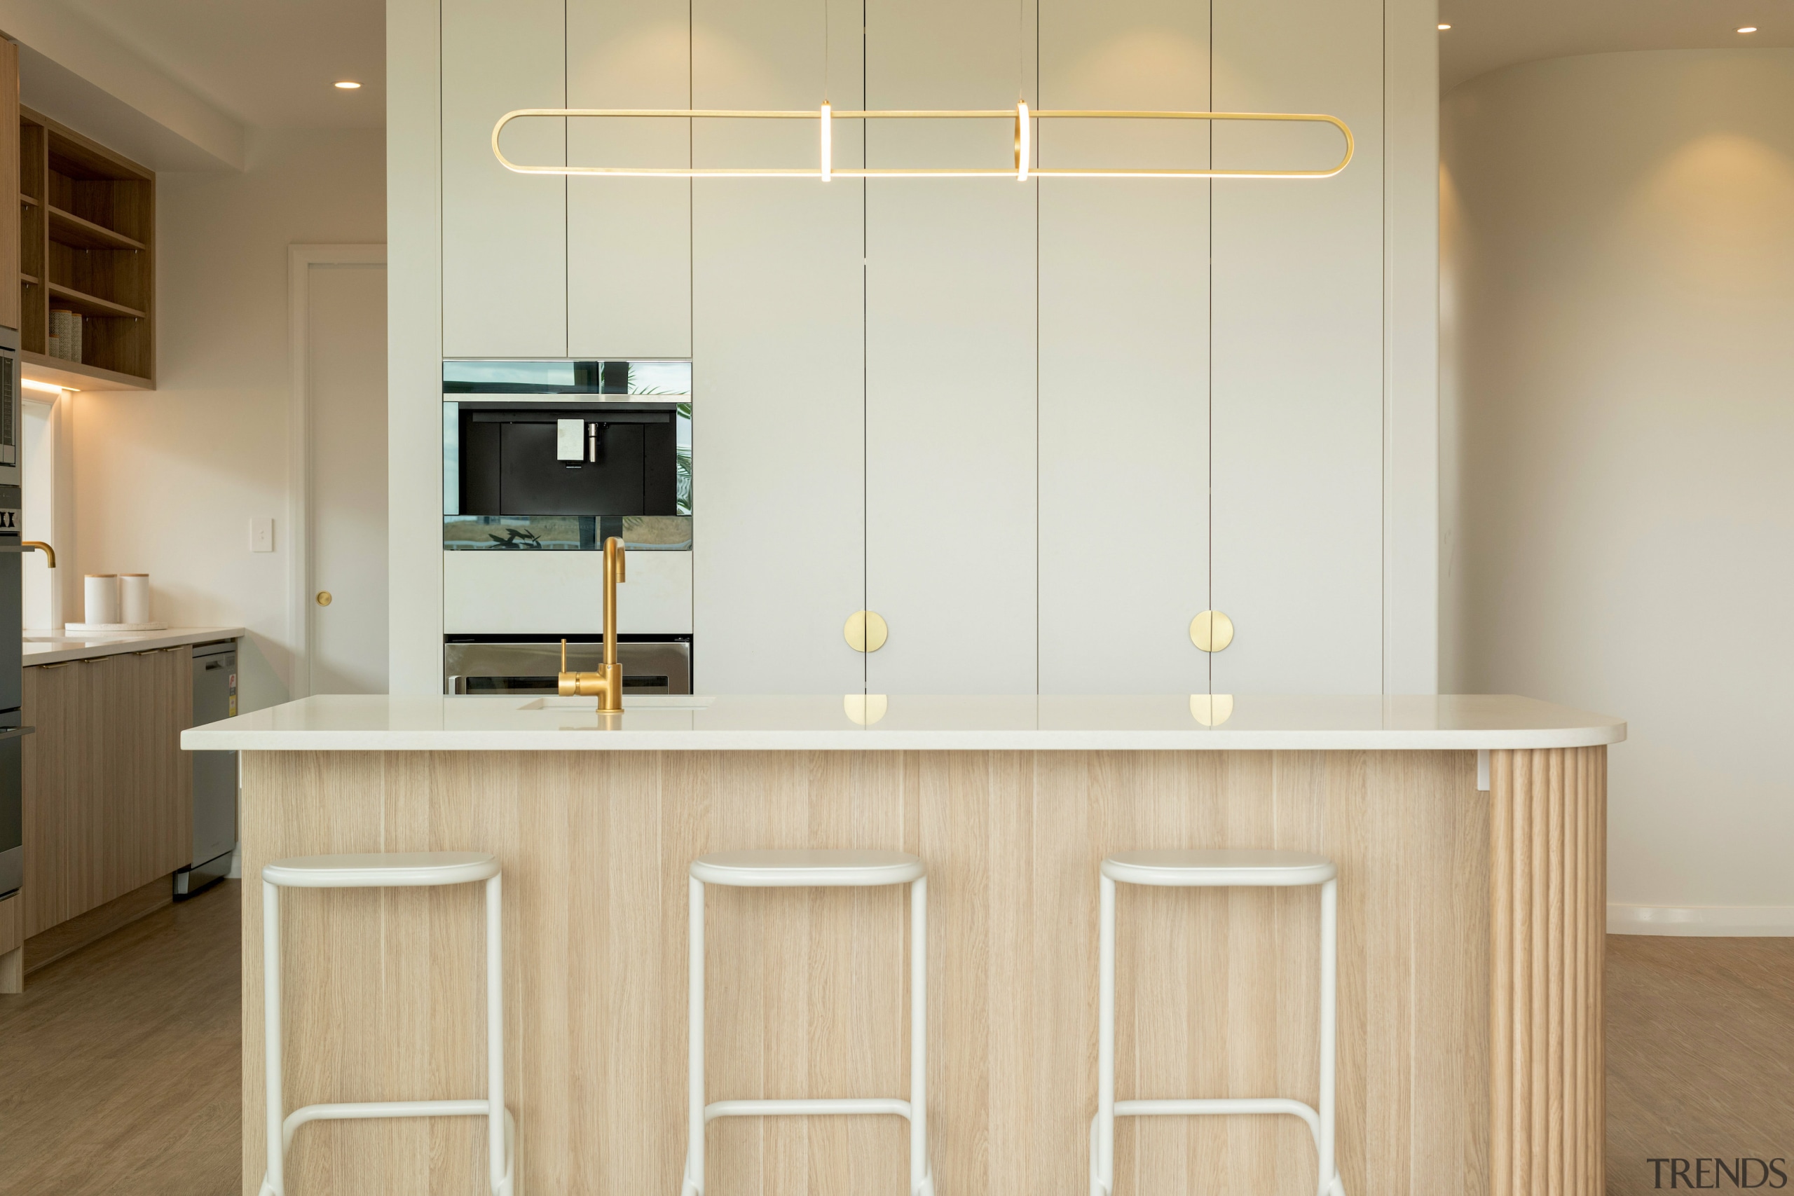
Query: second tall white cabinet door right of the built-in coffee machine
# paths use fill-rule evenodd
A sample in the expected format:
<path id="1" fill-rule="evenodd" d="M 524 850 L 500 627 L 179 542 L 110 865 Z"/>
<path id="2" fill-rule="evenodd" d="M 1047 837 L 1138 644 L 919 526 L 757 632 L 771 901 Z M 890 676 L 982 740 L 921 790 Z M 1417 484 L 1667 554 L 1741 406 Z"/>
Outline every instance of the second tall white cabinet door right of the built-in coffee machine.
<path id="1" fill-rule="evenodd" d="M 1012 108 L 1015 23 L 1001 0 L 872 5 L 867 108 Z M 1012 136 L 1003 120 L 881 120 L 867 158 L 1001 169 Z M 867 183 L 867 604 L 890 626 L 872 692 L 1037 687 L 1035 195 Z"/>

